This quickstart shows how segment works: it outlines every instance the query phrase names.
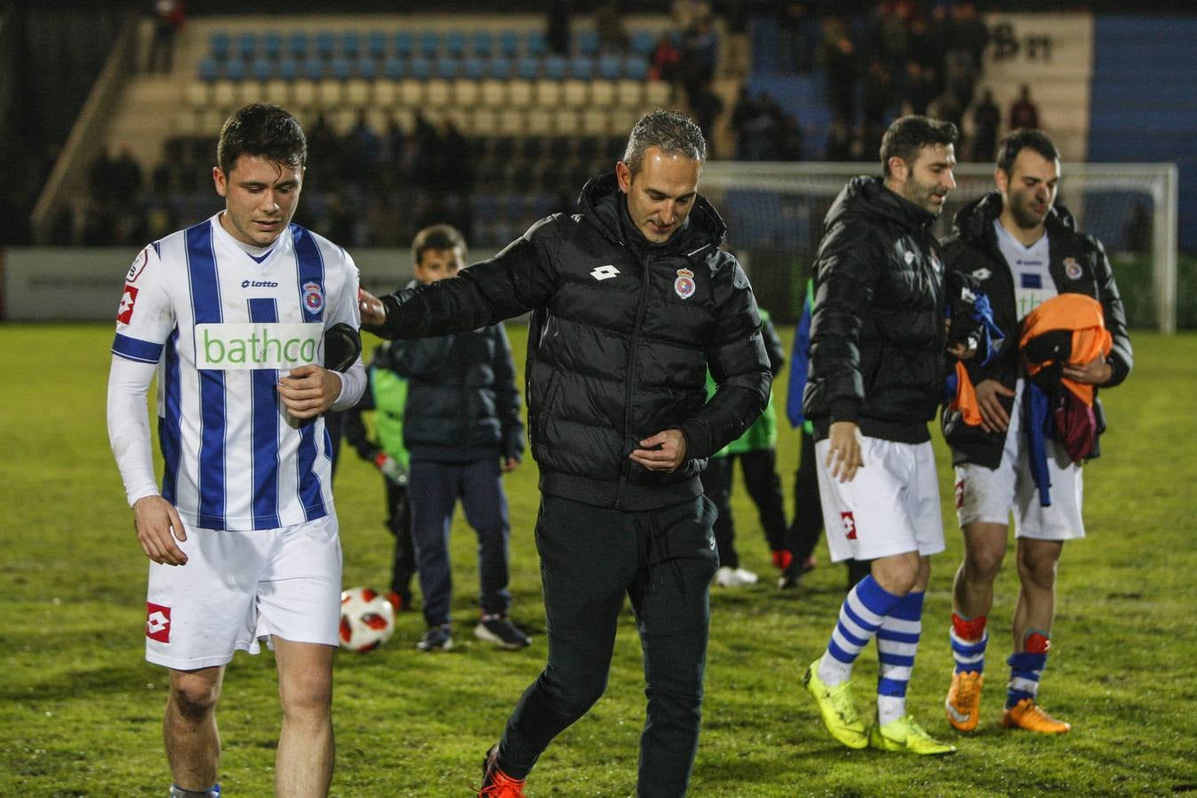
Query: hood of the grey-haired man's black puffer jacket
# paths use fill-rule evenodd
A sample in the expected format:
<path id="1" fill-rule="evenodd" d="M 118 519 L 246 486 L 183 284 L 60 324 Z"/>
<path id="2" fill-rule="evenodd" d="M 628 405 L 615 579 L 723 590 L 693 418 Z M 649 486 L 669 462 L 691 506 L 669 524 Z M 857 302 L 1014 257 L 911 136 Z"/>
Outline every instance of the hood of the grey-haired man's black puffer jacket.
<path id="1" fill-rule="evenodd" d="M 625 246 L 662 246 L 686 256 L 695 256 L 710 249 L 717 249 L 728 232 L 728 226 L 718 211 L 701 194 L 694 197 L 686 223 L 663 244 L 652 244 L 627 215 L 627 201 L 619 190 L 615 172 L 606 172 L 593 177 L 582 187 L 578 196 L 578 211 L 590 224 L 598 227 L 603 236 Z M 633 240 L 627 240 L 631 237 Z"/>

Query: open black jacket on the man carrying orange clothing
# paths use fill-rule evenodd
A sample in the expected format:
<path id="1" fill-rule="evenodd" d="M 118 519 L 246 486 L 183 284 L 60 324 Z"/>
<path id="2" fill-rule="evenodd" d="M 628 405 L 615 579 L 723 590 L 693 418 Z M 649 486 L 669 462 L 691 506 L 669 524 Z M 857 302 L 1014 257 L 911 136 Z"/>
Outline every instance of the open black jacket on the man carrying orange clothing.
<path id="1" fill-rule="evenodd" d="M 1002 195 L 997 191 L 960 208 L 953 220 L 953 232 L 943 242 L 943 258 L 948 269 L 962 272 L 979 281 L 980 290 L 989 296 L 994 321 L 1005 333 L 1001 354 L 988 366 L 966 361 L 973 385 L 983 379 L 996 379 L 1014 390 L 1020 373 L 1021 319 L 1015 306 L 1014 275 L 1002 256 L 997 244 L 997 232 L 994 230 L 994 221 L 1001 213 Z M 1106 329 L 1113 336 L 1113 351 L 1110 353 L 1113 376 L 1106 386 L 1117 385 L 1130 373 L 1134 354 L 1126 334 L 1126 310 L 1118 296 L 1118 286 L 1114 284 L 1113 270 L 1110 268 L 1105 249 L 1093 236 L 1077 232 L 1073 214 L 1061 205 L 1047 213 L 1044 224 L 1047 227 L 1050 245 L 1047 268 L 1056 291 L 1081 293 L 1101 303 Z M 1010 412 L 1014 400 L 1001 397 L 1001 402 L 1007 412 Z M 1101 403 L 1096 401 L 1095 404 L 1098 418 L 1101 419 Z M 952 445 L 952 457 L 955 463 L 977 463 L 986 468 L 997 468 L 1002 462 L 1004 432 L 988 433 L 980 427 L 970 427 L 960 420 L 958 413 L 948 412 L 943 413 L 942 425 L 944 438 Z M 1096 456 L 1096 451 L 1094 447 L 1093 456 Z"/>

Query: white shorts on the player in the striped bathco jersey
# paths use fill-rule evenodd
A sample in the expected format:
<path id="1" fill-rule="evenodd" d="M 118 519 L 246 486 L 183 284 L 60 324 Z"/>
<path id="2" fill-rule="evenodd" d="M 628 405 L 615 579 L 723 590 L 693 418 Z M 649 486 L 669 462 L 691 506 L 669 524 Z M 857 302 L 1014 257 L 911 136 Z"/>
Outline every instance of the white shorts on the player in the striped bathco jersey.
<path id="1" fill-rule="evenodd" d="M 271 635 L 338 645 L 341 541 L 336 516 L 280 529 L 187 528 L 187 565 L 150 564 L 146 659 L 176 670 L 256 654 Z"/>

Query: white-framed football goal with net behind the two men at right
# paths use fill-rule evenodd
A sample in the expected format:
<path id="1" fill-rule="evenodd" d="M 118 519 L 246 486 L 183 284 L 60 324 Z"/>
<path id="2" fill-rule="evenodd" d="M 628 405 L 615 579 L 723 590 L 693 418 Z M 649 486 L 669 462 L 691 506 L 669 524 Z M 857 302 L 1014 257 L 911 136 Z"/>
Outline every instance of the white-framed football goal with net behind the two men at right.
<path id="1" fill-rule="evenodd" d="M 877 173 L 871 163 L 711 162 L 700 190 L 728 223 L 728 245 L 779 321 L 795 321 L 796 299 L 809 274 L 832 201 L 855 175 Z M 966 202 L 994 190 L 994 166 L 960 164 L 936 233 L 946 236 Z M 1096 236 L 1113 263 L 1130 323 L 1161 333 L 1177 329 L 1175 164 L 1064 164 L 1057 201 L 1077 229 Z"/>

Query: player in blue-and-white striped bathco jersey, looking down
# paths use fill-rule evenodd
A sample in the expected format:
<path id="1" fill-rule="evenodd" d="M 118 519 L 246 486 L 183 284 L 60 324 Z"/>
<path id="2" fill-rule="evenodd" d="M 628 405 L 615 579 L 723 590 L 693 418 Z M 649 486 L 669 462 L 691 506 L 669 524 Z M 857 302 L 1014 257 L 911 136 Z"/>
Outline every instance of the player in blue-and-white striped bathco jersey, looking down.
<path id="1" fill-rule="evenodd" d="M 365 385 L 358 273 L 344 249 L 291 224 L 306 141 L 288 112 L 242 108 L 217 160 L 225 209 L 146 246 L 116 317 L 108 428 L 151 560 L 146 659 L 170 669 L 171 796 L 219 794 L 225 665 L 263 639 L 282 705 L 277 792 L 324 796 L 341 547 L 321 414 L 352 407 Z"/>

